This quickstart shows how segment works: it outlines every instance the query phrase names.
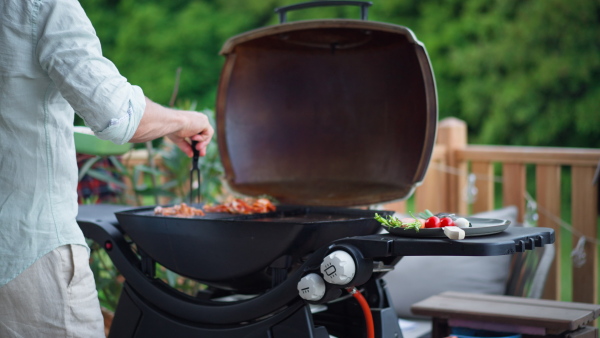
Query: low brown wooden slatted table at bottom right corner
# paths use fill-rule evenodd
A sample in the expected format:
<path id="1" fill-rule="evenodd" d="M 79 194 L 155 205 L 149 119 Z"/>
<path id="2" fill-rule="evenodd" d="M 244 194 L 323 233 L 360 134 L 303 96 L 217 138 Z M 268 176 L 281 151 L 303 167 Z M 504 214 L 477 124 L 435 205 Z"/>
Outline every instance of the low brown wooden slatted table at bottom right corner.
<path id="1" fill-rule="evenodd" d="M 411 310 L 433 318 L 433 338 L 448 336 L 451 327 L 514 332 L 523 337 L 596 338 L 598 329 L 586 325 L 600 316 L 597 304 L 463 292 L 443 292 L 414 304 Z"/>

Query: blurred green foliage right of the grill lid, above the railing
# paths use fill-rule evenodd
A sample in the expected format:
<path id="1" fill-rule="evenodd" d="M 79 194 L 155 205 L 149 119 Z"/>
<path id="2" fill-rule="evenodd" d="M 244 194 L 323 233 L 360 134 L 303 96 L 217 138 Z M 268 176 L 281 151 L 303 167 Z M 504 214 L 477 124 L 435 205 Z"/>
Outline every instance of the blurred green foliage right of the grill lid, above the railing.
<path id="1" fill-rule="evenodd" d="M 597 1 L 427 1 L 441 116 L 475 143 L 600 146 Z"/>

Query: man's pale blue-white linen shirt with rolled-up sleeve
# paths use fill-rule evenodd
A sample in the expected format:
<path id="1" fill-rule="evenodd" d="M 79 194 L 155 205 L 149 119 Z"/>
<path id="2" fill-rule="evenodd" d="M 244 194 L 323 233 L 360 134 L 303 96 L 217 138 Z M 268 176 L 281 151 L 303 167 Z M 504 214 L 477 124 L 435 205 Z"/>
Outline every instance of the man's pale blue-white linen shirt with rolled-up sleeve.
<path id="1" fill-rule="evenodd" d="M 144 109 L 78 1 L 0 0 L 0 287 L 61 245 L 86 246 L 74 112 L 123 144 Z"/>

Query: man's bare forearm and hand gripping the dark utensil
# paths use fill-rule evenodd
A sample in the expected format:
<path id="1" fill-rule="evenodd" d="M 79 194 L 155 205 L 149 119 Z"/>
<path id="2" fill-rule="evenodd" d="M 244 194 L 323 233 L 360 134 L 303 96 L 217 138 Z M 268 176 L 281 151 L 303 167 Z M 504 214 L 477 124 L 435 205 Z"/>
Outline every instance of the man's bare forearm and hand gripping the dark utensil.
<path id="1" fill-rule="evenodd" d="M 146 142 L 167 136 L 184 153 L 192 156 L 190 141 L 198 141 L 196 149 L 200 156 L 206 155 L 206 147 L 214 134 L 208 117 L 202 113 L 163 107 L 146 98 L 144 116 L 129 142 Z"/>

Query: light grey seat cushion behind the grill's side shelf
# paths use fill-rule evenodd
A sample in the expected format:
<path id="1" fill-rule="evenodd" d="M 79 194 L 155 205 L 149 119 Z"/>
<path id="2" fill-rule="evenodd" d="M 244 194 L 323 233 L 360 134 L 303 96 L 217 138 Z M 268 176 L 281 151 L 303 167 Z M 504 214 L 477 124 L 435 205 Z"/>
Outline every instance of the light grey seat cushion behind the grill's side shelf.
<path id="1" fill-rule="evenodd" d="M 514 224 L 517 214 L 518 209 L 511 206 L 473 217 L 506 219 Z M 503 294 L 510 257 L 406 256 L 384 280 L 398 316 L 419 318 L 410 312 L 411 305 L 440 292 Z"/>

